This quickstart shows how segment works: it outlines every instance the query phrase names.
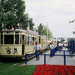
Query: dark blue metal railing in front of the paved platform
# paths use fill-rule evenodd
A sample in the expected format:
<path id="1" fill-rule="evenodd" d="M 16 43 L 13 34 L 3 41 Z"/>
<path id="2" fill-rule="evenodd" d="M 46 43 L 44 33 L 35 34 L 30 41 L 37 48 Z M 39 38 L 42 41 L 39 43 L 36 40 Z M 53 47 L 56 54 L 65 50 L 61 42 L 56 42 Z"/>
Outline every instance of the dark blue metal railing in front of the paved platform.
<path id="1" fill-rule="evenodd" d="M 51 50 L 52 51 L 52 50 Z M 71 55 L 66 55 L 65 54 L 65 51 L 68 51 L 68 50 L 59 50 L 59 51 L 63 51 L 63 55 L 61 55 L 61 54 L 55 54 L 54 56 L 63 56 L 64 57 L 64 65 L 66 65 L 66 56 L 71 56 L 71 57 L 73 57 L 73 56 L 75 56 L 75 55 L 73 55 L 73 54 L 71 54 Z M 46 55 L 47 56 L 50 56 L 50 54 L 25 54 L 25 65 L 27 65 L 27 55 L 44 55 L 44 64 L 46 64 Z M 51 54 L 51 57 L 52 57 L 53 55 Z"/>

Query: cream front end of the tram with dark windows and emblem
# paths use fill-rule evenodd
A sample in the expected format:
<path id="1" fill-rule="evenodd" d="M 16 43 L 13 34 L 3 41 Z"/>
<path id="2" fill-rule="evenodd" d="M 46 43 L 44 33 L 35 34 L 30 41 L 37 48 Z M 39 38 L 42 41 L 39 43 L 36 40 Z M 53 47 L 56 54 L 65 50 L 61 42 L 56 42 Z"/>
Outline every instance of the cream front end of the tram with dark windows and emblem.
<path id="1" fill-rule="evenodd" d="M 0 32 L 0 57 L 22 57 L 22 32 L 14 30 L 11 25 Z"/>

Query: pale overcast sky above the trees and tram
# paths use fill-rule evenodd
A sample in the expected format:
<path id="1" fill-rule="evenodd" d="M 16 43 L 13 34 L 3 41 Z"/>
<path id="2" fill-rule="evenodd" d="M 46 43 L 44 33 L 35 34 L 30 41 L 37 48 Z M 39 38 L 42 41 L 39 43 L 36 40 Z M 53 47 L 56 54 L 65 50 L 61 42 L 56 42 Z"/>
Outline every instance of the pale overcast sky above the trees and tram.
<path id="1" fill-rule="evenodd" d="M 25 0 L 26 13 L 35 26 L 48 25 L 54 37 L 75 37 L 75 0 Z"/>

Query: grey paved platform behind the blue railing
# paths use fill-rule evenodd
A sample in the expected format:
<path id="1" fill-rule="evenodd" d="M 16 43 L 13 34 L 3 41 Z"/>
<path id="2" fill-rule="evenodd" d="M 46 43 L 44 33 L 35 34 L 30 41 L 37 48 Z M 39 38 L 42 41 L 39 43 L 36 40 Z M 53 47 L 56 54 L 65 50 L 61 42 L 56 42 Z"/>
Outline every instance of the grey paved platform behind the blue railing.
<path id="1" fill-rule="evenodd" d="M 66 49 L 65 49 L 66 50 Z M 49 54 L 50 51 L 47 51 L 44 54 Z M 63 55 L 63 51 L 59 52 L 57 51 L 55 54 L 62 54 Z M 65 54 L 69 55 L 69 52 L 65 52 Z M 36 58 L 30 60 L 27 62 L 27 65 L 39 65 L 39 64 L 44 64 L 44 56 L 40 55 L 40 60 L 36 61 Z M 46 56 L 46 64 L 50 64 L 50 65 L 64 65 L 64 57 L 63 56 Z M 66 56 L 66 65 L 75 65 L 75 56 L 71 57 L 71 56 Z"/>

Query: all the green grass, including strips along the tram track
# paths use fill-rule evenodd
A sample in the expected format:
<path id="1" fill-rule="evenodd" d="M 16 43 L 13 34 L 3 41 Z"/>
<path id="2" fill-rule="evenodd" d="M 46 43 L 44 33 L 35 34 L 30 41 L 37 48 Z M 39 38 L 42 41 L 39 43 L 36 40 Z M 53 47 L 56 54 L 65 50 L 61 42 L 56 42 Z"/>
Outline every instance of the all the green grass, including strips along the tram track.
<path id="1" fill-rule="evenodd" d="M 46 49 L 44 52 L 41 52 L 40 54 L 45 53 L 48 50 L 49 49 Z M 33 58 L 35 58 L 35 56 L 28 59 L 27 61 Z M 12 66 L 12 65 L 16 64 L 16 62 L 12 62 L 12 61 L 1 63 L 0 64 L 0 75 L 32 75 L 37 66 L 37 65 L 20 66 L 20 64 L 25 63 L 25 61 L 17 62 L 17 63 L 18 64 L 15 66 Z"/>

